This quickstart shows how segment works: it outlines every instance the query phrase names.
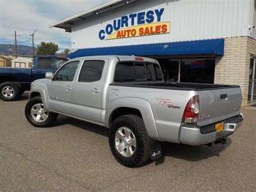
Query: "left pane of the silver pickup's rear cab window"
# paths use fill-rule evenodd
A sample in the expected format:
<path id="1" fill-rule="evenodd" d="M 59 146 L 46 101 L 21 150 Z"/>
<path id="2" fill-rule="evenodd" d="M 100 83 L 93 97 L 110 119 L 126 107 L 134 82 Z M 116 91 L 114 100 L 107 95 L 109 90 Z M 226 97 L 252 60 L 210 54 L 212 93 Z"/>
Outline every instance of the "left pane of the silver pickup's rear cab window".
<path id="1" fill-rule="evenodd" d="M 116 82 L 134 81 L 133 62 L 118 63 L 118 65 L 116 65 L 115 81 Z"/>

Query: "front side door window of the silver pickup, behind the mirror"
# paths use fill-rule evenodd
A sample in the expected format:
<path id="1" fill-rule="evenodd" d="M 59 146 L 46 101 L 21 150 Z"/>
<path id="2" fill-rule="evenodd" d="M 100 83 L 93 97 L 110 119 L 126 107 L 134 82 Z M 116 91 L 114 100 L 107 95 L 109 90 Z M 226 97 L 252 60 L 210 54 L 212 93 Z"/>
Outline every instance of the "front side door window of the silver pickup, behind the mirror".
<path id="1" fill-rule="evenodd" d="M 55 81 L 73 81 L 79 61 L 73 61 L 64 65 L 56 74 Z"/>

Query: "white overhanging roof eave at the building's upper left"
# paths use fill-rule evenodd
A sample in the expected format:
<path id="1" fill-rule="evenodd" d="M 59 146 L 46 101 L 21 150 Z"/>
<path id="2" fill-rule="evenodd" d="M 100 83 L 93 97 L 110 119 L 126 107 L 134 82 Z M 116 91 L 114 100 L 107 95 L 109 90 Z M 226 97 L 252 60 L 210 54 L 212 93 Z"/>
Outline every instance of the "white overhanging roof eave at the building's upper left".
<path id="1" fill-rule="evenodd" d="M 120 6 L 124 6 L 124 4 L 133 3 L 134 1 L 138 0 L 113 0 L 109 1 L 108 3 L 101 4 L 99 6 L 96 6 L 90 10 L 86 10 L 85 12 L 77 13 L 76 15 L 73 15 L 71 17 L 68 17 L 66 19 L 60 20 L 58 22 L 54 22 L 53 24 L 49 25 L 49 28 L 61 28 L 66 29 L 66 32 L 71 32 L 70 26 L 72 26 L 73 22 L 79 20 L 79 19 L 86 19 L 86 17 L 91 17 L 93 15 L 98 15 L 99 13 L 107 12 L 109 10 L 113 10 L 115 8 L 118 8 Z M 123 4 L 120 4 L 123 3 Z M 116 5 L 116 6 L 115 6 Z M 106 8 L 104 10 L 104 8 Z M 72 21 L 74 20 L 74 21 Z"/>

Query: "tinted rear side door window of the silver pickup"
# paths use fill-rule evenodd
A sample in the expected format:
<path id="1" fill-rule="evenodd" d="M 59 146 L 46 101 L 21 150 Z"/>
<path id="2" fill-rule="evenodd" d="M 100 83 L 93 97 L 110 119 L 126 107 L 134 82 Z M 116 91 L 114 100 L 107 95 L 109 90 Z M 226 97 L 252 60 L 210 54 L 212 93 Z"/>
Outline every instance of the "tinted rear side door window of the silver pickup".
<path id="1" fill-rule="evenodd" d="M 105 61 L 84 61 L 81 68 L 79 81 L 94 82 L 99 81 L 102 76 Z"/>

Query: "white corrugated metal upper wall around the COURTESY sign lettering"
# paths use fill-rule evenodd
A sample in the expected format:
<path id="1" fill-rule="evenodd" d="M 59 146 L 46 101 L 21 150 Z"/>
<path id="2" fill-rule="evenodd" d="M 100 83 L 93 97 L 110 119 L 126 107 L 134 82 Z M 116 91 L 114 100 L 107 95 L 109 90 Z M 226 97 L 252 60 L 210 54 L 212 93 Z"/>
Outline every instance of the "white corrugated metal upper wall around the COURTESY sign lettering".
<path id="1" fill-rule="evenodd" d="M 109 23 L 113 24 L 113 19 L 160 8 L 165 8 L 161 21 L 171 22 L 169 34 L 116 40 L 99 39 L 100 29 L 106 28 Z M 256 29 L 255 33 L 248 29 L 256 21 L 253 20 L 254 12 L 254 0 L 145 1 L 75 23 L 72 27 L 72 49 L 256 36 Z"/>

